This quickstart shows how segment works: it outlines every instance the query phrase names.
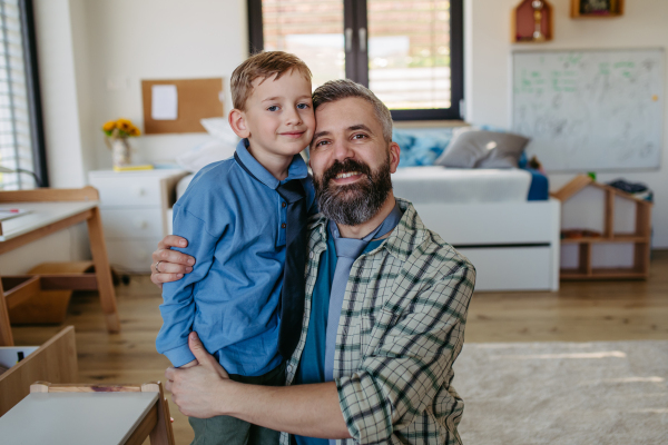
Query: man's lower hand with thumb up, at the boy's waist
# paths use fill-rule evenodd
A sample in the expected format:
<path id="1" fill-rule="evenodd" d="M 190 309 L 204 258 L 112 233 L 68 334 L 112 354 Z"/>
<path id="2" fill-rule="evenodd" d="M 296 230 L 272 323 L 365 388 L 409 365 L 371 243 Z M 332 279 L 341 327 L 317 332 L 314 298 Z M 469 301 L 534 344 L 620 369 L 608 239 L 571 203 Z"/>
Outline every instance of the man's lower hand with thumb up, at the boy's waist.
<path id="1" fill-rule="evenodd" d="M 225 414 L 220 406 L 228 397 L 223 393 L 228 386 L 237 384 L 207 353 L 196 333 L 188 336 L 188 346 L 199 364 L 187 369 L 167 368 L 166 389 L 171 392 L 171 399 L 186 416 L 209 418 Z"/>

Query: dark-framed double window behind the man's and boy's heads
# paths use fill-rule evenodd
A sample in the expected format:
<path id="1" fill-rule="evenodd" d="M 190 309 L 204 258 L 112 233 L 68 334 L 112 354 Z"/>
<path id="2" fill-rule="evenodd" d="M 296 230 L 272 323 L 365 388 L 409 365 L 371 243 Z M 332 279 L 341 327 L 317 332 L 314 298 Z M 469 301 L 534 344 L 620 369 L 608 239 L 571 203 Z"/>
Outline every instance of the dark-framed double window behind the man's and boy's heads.
<path id="1" fill-rule="evenodd" d="M 250 51 L 302 58 L 314 88 L 348 78 L 397 120 L 460 119 L 462 0 L 248 0 Z"/>

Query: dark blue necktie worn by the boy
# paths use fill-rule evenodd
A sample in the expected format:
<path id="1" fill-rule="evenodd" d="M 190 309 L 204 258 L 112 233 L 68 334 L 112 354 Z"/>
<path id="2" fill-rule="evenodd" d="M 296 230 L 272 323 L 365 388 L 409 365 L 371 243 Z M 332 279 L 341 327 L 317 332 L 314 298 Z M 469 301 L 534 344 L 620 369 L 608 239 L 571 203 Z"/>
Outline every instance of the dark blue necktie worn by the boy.
<path id="1" fill-rule="evenodd" d="M 250 177 L 258 180 L 246 168 L 237 154 L 234 159 Z M 306 191 L 299 179 L 279 185 L 276 191 L 287 204 L 285 227 L 285 266 L 283 288 L 281 290 L 281 326 L 278 330 L 278 352 L 289 359 L 297 347 L 304 320 L 304 298 L 306 268 Z"/>

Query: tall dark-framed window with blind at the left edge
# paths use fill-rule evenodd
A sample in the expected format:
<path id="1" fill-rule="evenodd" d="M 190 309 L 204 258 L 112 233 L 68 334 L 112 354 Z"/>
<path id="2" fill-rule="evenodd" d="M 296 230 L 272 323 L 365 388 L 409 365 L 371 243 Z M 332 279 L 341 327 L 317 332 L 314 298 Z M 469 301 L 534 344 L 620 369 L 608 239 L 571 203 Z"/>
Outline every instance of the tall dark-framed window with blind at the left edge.
<path id="1" fill-rule="evenodd" d="M 0 189 L 48 186 L 30 0 L 0 0 Z"/>

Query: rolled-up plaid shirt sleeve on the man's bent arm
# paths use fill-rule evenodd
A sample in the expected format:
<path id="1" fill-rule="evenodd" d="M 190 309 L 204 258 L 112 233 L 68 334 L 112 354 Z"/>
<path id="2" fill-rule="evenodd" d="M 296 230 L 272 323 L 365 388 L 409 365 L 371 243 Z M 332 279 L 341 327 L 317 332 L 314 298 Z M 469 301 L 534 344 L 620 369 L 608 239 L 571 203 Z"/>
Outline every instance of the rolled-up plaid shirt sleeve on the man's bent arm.
<path id="1" fill-rule="evenodd" d="M 462 263 L 405 308 L 381 312 L 373 327 L 380 338 L 375 350 L 357 372 L 335 379 L 344 419 L 357 443 L 399 443 L 393 433 L 448 389 L 474 283 L 474 268 Z"/>

